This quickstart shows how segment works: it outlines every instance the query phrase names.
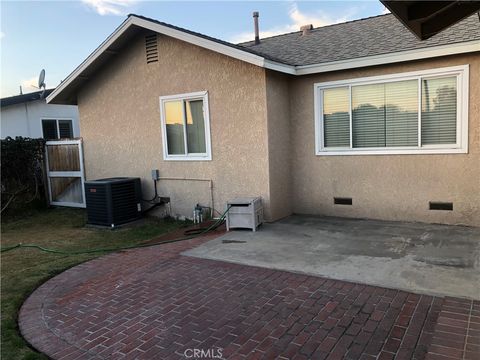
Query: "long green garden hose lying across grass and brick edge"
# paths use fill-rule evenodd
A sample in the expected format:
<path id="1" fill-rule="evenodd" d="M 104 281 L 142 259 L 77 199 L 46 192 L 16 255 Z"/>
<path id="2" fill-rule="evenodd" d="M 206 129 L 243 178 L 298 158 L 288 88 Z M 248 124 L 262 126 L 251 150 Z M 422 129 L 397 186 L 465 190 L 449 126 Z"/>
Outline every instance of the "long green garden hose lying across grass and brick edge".
<path id="1" fill-rule="evenodd" d="M 7 251 L 12 251 L 15 249 L 21 249 L 21 248 L 28 248 L 28 249 L 36 249 L 40 250 L 46 253 L 51 253 L 51 254 L 60 254 L 60 255 L 82 255 L 82 254 L 93 254 L 93 253 L 99 253 L 99 252 L 112 252 L 112 251 L 119 251 L 119 250 L 129 250 L 129 249 L 136 249 L 136 248 L 145 248 L 145 247 L 150 247 L 150 246 L 156 246 L 156 245 L 161 245 L 161 244 L 169 244 L 169 243 L 174 243 L 178 241 L 184 241 L 184 240 L 191 240 L 194 239 L 200 235 L 206 234 L 209 231 L 216 230 L 220 225 L 222 225 L 223 221 L 225 220 L 225 217 L 227 216 L 228 210 L 230 210 L 230 206 L 225 210 L 225 212 L 220 216 L 220 218 L 217 219 L 212 225 L 205 227 L 203 229 L 191 229 L 187 230 L 185 233 L 188 234 L 187 236 L 183 236 L 177 239 L 172 239 L 172 240 L 164 240 L 164 241 L 159 241 L 155 243 L 148 243 L 148 244 L 137 244 L 137 245 L 130 245 L 130 246 L 121 246 L 121 247 L 116 247 L 116 248 L 100 248 L 100 249 L 89 249 L 89 250 L 78 250 L 78 251 L 64 251 L 64 250 L 56 250 L 56 249 L 49 249 L 45 248 L 40 245 L 36 244 L 17 244 L 13 246 L 8 246 L 8 247 L 2 247 L 0 249 L 0 253 L 4 253 Z M 192 230 L 196 230 L 199 232 L 190 232 Z"/>

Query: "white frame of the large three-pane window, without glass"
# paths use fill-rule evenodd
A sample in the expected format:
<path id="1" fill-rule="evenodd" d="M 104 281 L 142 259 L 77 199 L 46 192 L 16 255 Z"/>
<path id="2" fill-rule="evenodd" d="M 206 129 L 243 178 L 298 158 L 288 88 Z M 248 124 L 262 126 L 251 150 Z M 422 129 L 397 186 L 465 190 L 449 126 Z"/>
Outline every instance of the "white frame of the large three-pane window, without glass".
<path id="1" fill-rule="evenodd" d="M 352 135 L 350 134 L 350 148 L 325 148 L 323 130 L 323 89 L 346 86 L 350 88 L 351 107 L 351 86 L 387 83 L 401 80 L 420 80 L 421 77 L 436 76 L 457 76 L 457 142 L 446 145 L 423 145 L 421 147 L 391 147 L 391 148 L 352 148 Z M 468 80 L 469 65 L 452 66 L 445 68 L 396 73 L 381 76 L 371 76 L 339 81 L 330 81 L 314 84 L 314 117 L 315 117 L 315 154 L 316 155 L 394 155 L 394 154 L 467 154 L 468 153 Z M 419 91 L 421 100 L 421 87 Z M 419 107 L 421 104 L 419 103 Z M 351 114 L 351 111 L 350 111 Z M 421 112 L 419 112 L 419 119 Z M 420 127 L 420 121 L 419 121 Z M 350 119 L 350 132 L 351 132 Z M 418 133 L 419 144 L 421 133 Z"/>

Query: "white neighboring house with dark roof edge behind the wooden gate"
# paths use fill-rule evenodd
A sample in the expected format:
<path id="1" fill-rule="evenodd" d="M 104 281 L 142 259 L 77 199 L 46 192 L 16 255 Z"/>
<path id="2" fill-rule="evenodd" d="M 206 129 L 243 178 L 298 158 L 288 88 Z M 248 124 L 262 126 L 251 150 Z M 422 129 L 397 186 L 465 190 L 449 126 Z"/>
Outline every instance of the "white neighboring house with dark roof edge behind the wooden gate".
<path id="1" fill-rule="evenodd" d="M 76 105 L 47 104 L 53 89 L 0 99 L 1 138 L 60 139 L 80 136 Z"/>

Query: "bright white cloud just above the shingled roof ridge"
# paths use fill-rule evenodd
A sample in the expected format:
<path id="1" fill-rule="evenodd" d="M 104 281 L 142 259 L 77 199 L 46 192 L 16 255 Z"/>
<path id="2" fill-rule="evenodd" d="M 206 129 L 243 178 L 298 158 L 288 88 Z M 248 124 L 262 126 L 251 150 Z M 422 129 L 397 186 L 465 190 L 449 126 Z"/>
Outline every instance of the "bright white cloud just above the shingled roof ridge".
<path id="1" fill-rule="evenodd" d="M 270 36 L 299 31 L 302 25 L 312 24 L 314 27 L 320 27 L 320 26 L 326 26 L 326 25 L 345 22 L 350 20 L 350 18 L 354 15 L 354 13 L 355 13 L 355 10 L 350 9 L 346 11 L 343 15 L 335 16 L 335 17 L 332 17 L 331 15 L 323 11 L 317 11 L 315 13 L 305 14 L 300 11 L 296 3 L 293 3 L 288 12 L 290 23 L 277 26 L 274 28 L 266 29 L 266 30 L 262 30 L 262 26 L 260 23 L 260 38 L 266 38 Z M 236 44 L 236 43 L 241 43 L 245 41 L 251 41 L 253 40 L 253 37 L 254 37 L 253 32 L 251 31 L 243 32 L 243 33 L 234 35 L 230 39 L 230 42 Z"/>

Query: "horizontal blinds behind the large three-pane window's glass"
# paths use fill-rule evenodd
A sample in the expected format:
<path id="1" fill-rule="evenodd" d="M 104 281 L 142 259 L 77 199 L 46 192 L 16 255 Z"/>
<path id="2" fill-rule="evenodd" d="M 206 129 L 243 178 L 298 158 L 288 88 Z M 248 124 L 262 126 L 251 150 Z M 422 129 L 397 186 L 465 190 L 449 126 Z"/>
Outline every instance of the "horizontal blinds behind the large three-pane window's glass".
<path id="1" fill-rule="evenodd" d="M 456 76 L 415 78 L 323 89 L 323 146 L 418 147 L 419 121 L 420 146 L 455 144 L 456 81 Z"/>

